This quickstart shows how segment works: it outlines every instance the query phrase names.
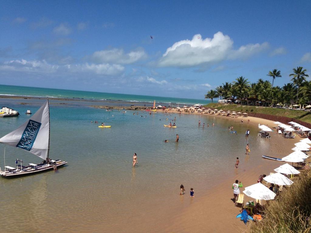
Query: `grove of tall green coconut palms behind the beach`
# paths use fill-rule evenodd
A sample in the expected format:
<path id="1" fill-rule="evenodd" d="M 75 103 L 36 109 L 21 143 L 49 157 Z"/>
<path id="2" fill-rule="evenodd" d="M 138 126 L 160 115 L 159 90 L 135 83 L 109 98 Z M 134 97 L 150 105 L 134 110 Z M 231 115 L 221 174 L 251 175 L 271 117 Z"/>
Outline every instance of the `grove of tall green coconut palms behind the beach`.
<path id="1" fill-rule="evenodd" d="M 254 98 L 260 101 L 263 106 L 276 105 L 280 103 L 283 106 L 289 106 L 293 101 L 297 104 L 306 104 L 311 100 L 311 81 L 306 81 L 307 70 L 299 66 L 293 69 L 292 83 L 284 84 L 283 87 L 273 87 L 273 82 L 276 77 L 281 77 L 281 71 L 274 69 L 268 72 L 268 76 L 272 77 L 270 81 L 259 79 L 256 83 L 249 83 L 248 79 L 240 76 L 235 81 L 226 82 L 218 86 L 216 90 L 210 90 L 205 98 L 233 98 L 245 100 Z"/>

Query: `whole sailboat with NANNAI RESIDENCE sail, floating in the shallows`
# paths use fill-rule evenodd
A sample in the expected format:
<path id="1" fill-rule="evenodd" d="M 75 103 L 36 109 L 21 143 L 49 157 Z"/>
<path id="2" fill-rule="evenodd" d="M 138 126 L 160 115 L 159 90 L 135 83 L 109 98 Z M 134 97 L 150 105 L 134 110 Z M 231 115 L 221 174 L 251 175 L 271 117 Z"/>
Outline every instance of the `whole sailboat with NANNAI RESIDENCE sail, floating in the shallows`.
<path id="1" fill-rule="evenodd" d="M 33 174 L 46 170 L 57 170 L 57 167 L 65 165 L 62 160 L 52 160 L 49 158 L 50 147 L 50 111 L 49 100 L 47 100 L 39 110 L 28 121 L 19 126 L 16 130 L 0 138 L 0 143 L 24 149 L 43 159 L 39 164 L 29 163 L 22 166 L 22 160 L 16 159 L 16 168 L 5 166 L 0 176 L 12 177 Z M 5 158 L 5 148 L 4 148 Z M 5 164 L 5 159 L 4 159 Z"/>

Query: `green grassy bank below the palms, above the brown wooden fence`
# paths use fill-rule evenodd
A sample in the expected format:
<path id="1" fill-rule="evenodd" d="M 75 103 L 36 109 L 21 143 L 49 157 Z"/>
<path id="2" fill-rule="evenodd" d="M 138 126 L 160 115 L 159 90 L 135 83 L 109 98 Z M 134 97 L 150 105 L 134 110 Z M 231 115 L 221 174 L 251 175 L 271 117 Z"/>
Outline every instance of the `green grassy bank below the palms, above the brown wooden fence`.
<path id="1" fill-rule="evenodd" d="M 224 111 L 246 112 L 246 113 L 264 113 L 280 117 L 295 118 L 300 121 L 311 123 L 311 112 L 295 111 L 290 109 L 272 108 L 272 107 L 257 107 L 238 104 L 223 104 L 223 103 L 209 103 L 204 106 L 205 108 L 216 108 Z"/>

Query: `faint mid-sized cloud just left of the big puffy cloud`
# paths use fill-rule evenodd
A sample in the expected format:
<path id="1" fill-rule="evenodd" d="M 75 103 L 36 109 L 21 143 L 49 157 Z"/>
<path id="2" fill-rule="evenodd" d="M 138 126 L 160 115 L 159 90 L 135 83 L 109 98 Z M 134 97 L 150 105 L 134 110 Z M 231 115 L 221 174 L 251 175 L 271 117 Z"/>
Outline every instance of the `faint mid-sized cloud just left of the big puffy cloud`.
<path id="1" fill-rule="evenodd" d="M 111 62 L 119 64 L 131 64 L 146 57 L 143 49 L 137 49 L 129 53 L 124 53 L 123 49 L 100 50 L 93 53 L 92 58 L 95 62 Z"/>

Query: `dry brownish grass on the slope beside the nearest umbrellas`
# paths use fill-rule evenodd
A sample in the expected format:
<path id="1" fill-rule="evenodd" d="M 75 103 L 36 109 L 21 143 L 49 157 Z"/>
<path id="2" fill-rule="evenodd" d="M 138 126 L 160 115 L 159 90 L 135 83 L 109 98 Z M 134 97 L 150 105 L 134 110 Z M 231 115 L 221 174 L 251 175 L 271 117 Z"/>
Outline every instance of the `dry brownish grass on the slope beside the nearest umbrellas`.
<path id="1" fill-rule="evenodd" d="M 261 222 L 251 223 L 248 233 L 311 232 L 311 171 L 302 171 L 294 184 L 265 205 Z"/>

